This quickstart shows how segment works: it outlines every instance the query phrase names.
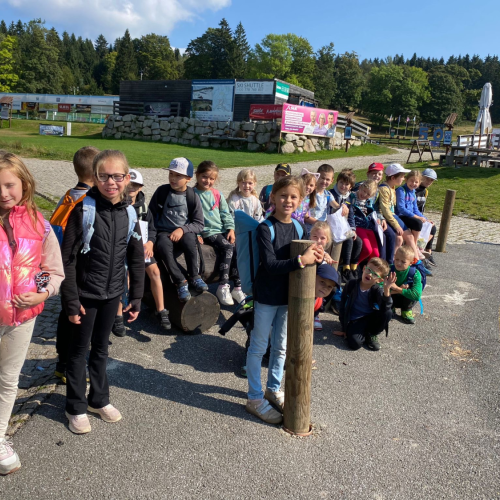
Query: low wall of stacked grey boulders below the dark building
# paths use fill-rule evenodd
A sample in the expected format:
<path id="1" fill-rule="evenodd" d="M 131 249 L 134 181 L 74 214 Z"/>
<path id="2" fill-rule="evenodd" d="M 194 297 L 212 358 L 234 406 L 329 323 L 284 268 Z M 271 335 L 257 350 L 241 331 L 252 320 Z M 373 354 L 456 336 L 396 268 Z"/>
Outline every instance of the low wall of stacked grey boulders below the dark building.
<path id="1" fill-rule="evenodd" d="M 280 123 L 202 122 L 196 118 L 170 116 L 111 115 L 102 131 L 104 139 L 137 139 L 205 148 L 234 148 L 247 151 L 277 151 Z M 361 145 L 352 140 L 351 146 Z M 323 149 L 345 148 L 343 134 L 334 138 L 283 134 L 283 153 L 312 153 Z"/>

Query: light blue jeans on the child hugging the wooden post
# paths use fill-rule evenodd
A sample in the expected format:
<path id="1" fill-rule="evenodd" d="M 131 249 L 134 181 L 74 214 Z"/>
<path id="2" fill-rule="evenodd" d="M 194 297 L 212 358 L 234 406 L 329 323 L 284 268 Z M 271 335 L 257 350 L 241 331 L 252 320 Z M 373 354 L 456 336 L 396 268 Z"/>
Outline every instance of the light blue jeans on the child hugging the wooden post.
<path id="1" fill-rule="evenodd" d="M 271 337 L 271 356 L 267 374 L 267 388 L 277 392 L 281 387 L 286 356 L 288 306 L 268 306 L 254 303 L 254 327 L 250 334 L 247 354 L 248 399 L 262 399 L 264 391 L 260 380 L 262 356 Z M 271 327 L 272 325 L 272 327 Z"/>

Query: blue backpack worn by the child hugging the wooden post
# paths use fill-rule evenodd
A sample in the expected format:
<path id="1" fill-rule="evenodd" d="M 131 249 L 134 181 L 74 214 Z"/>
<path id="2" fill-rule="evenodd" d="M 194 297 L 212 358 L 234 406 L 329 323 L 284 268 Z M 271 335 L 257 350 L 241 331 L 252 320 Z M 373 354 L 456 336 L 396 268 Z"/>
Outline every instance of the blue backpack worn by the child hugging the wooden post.
<path id="1" fill-rule="evenodd" d="M 304 230 L 299 221 L 292 219 L 299 238 L 302 239 Z M 252 286 L 259 268 L 260 255 L 257 244 L 257 227 L 259 224 L 266 224 L 271 232 L 271 243 L 276 237 L 271 221 L 256 221 L 243 210 L 234 211 L 234 225 L 236 233 L 236 262 L 241 280 L 243 293 L 252 295 Z"/>

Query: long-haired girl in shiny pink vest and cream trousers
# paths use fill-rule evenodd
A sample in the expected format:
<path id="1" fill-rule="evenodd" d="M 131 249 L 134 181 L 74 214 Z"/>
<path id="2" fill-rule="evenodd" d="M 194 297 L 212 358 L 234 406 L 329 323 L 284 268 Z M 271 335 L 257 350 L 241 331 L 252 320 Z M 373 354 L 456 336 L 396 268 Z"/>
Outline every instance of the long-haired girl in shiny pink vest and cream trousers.
<path id="1" fill-rule="evenodd" d="M 36 317 L 64 279 L 59 242 L 34 202 L 35 179 L 16 155 L 0 156 L 0 475 L 21 467 L 5 433 Z M 37 274 L 48 284 L 37 286 Z"/>

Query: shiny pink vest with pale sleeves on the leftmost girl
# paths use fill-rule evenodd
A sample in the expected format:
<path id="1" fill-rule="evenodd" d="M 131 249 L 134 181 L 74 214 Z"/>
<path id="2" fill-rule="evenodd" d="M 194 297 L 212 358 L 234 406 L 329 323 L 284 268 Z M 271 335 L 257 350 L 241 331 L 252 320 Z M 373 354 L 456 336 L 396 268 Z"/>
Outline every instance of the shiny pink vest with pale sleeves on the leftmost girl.
<path id="1" fill-rule="evenodd" d="M 16 240 L 14 254 L 6 231 L 0 226 L 0 325 L 20 325 L 43 311 L 43 302 L 30 309 L 18 309 L 12 303 L 14 295 L 37 291 L 35 275 L 40 270 L 50 273 L 51 281 L 47 286 L 50 295 L 58 292 L 64 279 L 57 238 L 52 229 L 47 235 L 44 218 L 40 213 L 37 215 L 35 231 L 26 207 L 12 209 L 9 222 Z"/>

